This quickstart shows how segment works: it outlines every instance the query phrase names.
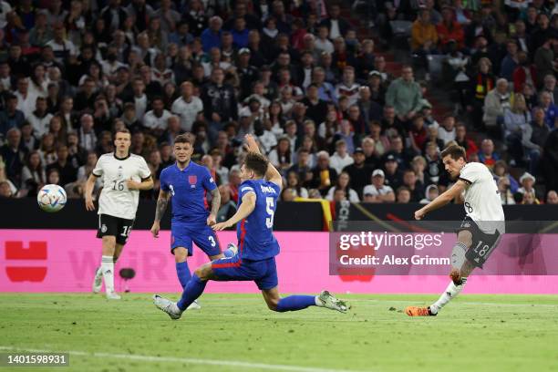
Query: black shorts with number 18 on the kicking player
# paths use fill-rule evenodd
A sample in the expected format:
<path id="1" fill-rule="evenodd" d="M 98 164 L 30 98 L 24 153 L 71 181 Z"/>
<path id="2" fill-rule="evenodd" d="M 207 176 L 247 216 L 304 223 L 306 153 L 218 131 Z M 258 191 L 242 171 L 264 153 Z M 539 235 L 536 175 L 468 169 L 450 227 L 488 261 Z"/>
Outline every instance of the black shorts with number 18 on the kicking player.
<path id="1" fill-rule="evenodd" d="M 484 233 L 469 216 L 465 216 L 457 233 L 463 230 L 467 230 L 472 235 L 472 244 L 465 253 L 465 257 L 476 267 L 482 268 L 500 242 L 501 233 L 498 230 L 495 233 Z"/>

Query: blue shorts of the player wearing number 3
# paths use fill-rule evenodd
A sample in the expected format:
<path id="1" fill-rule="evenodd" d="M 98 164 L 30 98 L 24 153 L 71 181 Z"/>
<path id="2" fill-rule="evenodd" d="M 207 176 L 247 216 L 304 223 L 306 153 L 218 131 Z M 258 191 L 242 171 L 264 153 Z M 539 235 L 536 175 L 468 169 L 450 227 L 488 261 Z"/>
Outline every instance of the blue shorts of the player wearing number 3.
<path id="1" fill-rule="evenodd" d="M 221 245 L 213 229 L 206 224 L 171 223 L 171 253 L 174 248 L 184 247 L 188 249 L 188 255 L 192 254 L 192 244 L 196 245 L 208 256 L 221 254 Z"/>

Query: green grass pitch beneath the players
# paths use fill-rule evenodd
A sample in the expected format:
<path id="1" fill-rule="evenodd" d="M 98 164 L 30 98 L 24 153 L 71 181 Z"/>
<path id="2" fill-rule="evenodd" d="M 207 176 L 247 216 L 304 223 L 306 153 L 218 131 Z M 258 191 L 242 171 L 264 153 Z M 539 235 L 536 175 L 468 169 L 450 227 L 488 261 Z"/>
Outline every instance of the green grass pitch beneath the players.
<path id="1" fill-rule="evenodd" d="M 150 294 L 0 294 L 0 352 L 71 353 L 70 367 L 15 371 L 558 371 L 558 296 L 465 294 L 422 318 L 402 310 L 436 295 L 339 297 L 348 314 L 204 294 L 171 321 Z"/>

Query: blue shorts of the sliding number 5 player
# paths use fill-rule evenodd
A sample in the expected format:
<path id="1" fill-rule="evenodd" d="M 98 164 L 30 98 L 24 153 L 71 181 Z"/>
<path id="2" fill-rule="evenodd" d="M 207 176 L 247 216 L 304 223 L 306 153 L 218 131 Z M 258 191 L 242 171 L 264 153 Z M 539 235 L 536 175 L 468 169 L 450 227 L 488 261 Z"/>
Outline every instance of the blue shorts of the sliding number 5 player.
<path id="1" fill-rule="evenodd" d="M 253 281 L 260 290 L 277 286 L 277 266 L 275 257 L 262 261 L 242 260 L 238 254 L 233 257 L 212 261 L 212 272 L 216 281 Z"/>

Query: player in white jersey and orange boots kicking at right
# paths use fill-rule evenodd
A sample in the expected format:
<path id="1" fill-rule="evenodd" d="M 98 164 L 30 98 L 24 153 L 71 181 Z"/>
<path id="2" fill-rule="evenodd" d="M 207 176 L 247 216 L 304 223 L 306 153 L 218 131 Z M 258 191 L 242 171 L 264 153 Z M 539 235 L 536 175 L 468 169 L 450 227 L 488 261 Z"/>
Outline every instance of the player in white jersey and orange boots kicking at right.
<path id="1" fill-rule="evenodd" d="M 448 191 L 417 212 L 421 220 L 428 212 L 439 209 L 464 193 L 465 218 L 458 230 L 458 241 L 451 252 L 451 282 L 429 307 L 409 306 L 409 316 L 437 315 L 444 305 L 460 294 L 467 278 L 475 267 L 482 268 L 505 232 L 505 220 L 501 199 L 491 171 L 482 163 L 466 162 L 465 149 L 449 146 L 441 152 L 441 158 L 452 179 L 457 179 Z"/>

